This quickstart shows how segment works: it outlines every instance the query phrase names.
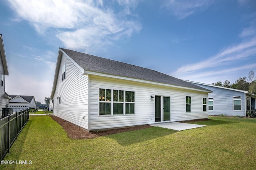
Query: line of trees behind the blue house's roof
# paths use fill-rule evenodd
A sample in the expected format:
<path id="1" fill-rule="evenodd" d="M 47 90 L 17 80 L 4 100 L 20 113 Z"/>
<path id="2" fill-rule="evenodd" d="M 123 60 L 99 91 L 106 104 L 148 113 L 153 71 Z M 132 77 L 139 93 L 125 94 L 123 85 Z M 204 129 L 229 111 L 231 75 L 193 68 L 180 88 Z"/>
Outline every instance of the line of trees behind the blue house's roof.
<path id="1" fill-rule="evenodd" d="M 256 76 L 253 70 L 248 73 L 247 77 L 239 77 L 234 83 L 225 80 L 223 83 L 216 82 L 212 83 L 212 85 L 244 90 L 256 94 Z"/>

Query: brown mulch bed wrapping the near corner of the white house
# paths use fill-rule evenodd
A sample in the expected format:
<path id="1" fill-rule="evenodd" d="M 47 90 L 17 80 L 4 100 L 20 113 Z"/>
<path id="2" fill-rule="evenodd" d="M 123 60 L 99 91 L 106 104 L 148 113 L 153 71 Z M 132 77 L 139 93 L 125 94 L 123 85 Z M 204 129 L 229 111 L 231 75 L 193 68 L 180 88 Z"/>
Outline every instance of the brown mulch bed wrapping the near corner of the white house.
<path id="1" fill-rule="evenodd" d="M 68 134 L 68 137 L 71 139 L 92 139 L 92 138 L 100 137 L 104 135 L 111 135 L 115 133 L 122 133 L 122 132 L 128 132 L 128 131 L 134 131 L 134 130 L 140 130 L 140 129 L 146 129 L 146 128 L 152 127 L 150 125 L 139 125 L 139 126 L 119 128 L 119 129 L 110 129 L 105 131 L 88 132 L 82 127 L 79 127 L 77 125 L 74 125 L 73 123 L 65 121 L 60 117 L 57 117 L 57 116 L 50 116 L 50 117 L 52 117 L 54 121 L 56 121 L 63 127 L 63 129 Z"/>

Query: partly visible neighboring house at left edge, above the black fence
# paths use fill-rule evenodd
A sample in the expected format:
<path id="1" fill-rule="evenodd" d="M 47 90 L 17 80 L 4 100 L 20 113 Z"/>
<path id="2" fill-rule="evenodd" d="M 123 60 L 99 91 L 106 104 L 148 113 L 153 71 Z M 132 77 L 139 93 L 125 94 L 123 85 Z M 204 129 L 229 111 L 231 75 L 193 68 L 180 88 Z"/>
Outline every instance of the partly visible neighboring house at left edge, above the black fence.
<path id="1" fill-rule="evenodd" d="M 2 117 L 2 108 L 7 108 L 9 104 L 9 99 L 11 98 L 5 92 L 5 76 L 8 76 L 8 66 L 6 61 L 6 56 L 4 52 L 4 42 L 2 39 L 2 34 L 0 34 L 0 117 Z"/>

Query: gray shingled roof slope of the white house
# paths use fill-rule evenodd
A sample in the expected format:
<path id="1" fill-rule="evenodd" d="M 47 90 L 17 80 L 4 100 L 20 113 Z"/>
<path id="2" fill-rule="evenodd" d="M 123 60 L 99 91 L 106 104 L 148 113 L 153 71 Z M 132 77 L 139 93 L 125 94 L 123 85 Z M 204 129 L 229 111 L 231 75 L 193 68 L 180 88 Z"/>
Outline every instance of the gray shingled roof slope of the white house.
<path id="1" fill-rule="evenodd" d="M 112 74 L 116 76 L 138 78 L 142 80 L 149 80 L 152 82 L 172 84 L 175 86 L 207 90 L 200 86 L 196 86 L 195 84 L 185 82 L 178 78 L 175 78 L 167 74 L 163 74 L 161 72 L 151 70 L 148 68 L 143 68 L 143 67 L 135 66 L 132 64 L 105 59 L 102 57 L 96 57 L 93 55 L 88 55 L 88 54 L 84 54 L 84 53 L 80 53 L 80 52 L 72 51 L 68 49 L 63 49 L 63 48 L 61 49 L 84 70 Z"/>

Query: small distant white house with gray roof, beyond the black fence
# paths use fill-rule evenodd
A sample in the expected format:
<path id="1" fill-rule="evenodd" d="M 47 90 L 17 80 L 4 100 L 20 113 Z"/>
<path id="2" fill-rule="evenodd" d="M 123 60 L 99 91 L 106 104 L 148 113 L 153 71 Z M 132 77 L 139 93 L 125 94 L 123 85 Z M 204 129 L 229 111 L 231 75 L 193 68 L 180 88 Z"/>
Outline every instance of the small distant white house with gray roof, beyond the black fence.
<path id="1" fill-rule="evenodd" d="M 9 107 L 13 111 L 20 111 L 28 108 L 36 108 L 36 100 L 34 96 L 16 96 L 10 95 L 12 99 L 9 101 Z"/>

